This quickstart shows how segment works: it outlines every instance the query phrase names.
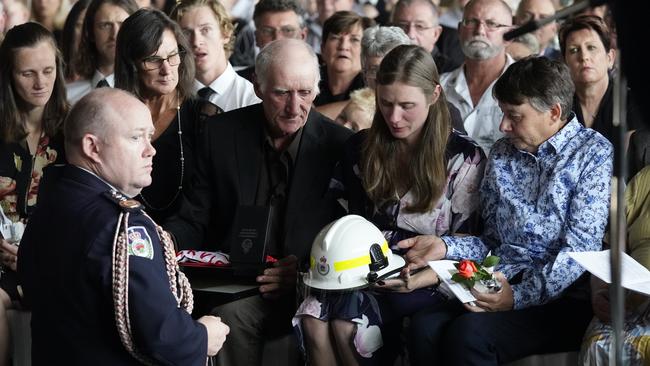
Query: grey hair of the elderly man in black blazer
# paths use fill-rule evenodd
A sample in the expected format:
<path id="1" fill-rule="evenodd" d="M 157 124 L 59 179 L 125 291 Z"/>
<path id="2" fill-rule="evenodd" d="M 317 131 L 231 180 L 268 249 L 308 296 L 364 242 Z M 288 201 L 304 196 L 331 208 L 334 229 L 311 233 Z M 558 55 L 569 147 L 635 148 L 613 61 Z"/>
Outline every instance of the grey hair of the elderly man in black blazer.
<path id="1" fill-rule="evenodd" d="M 313 92 L 318 94 L 318 84 L 320 83 L 320 67 L 318 66 L 318 56 L 314 50 L 305 41 L 299 39 L 279 39 L 266 45 L 255 59 L 255 76 L 260 89 L 266 88 L 269 70 L 274 64 L 282 64 L 289 58 L 294 58 L 299 52 L 288 52 L 302 48 L 308 59 L 305 62 L 311 63 L 314 71 L 314 89 Z"/>

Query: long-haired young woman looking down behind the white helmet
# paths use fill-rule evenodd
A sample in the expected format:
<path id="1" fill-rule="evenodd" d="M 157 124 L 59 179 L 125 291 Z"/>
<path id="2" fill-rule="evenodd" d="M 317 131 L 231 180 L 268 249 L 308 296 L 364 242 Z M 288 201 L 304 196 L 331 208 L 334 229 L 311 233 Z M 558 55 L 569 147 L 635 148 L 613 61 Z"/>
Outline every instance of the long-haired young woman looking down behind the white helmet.
<path id="1" fill-rule="evenodd" d="M 431 55 L 417 46 L 395 48 L 381 63 L 376 95 L 373 125 L 348 141 L 332 192 L 349 213 L 377 225 L 393 249 L 416 235 L 476 232 L 485 155 L 451 129 Z M 393 355 L 382 348 L 397 345 L 391 326 L 399 329 L 403 316 L 438 301 L 433 292 L 314 294 L 294 325 L 310 364 L 373 364 Z"/>

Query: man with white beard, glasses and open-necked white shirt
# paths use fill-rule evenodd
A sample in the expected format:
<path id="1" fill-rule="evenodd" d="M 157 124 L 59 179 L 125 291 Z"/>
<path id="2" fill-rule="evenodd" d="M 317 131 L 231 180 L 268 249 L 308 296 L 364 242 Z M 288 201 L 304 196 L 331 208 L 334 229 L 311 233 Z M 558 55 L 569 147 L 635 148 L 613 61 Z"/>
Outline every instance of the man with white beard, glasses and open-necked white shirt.
<path id="1" fill-rule="evenodd" d="M 506 54 L 503 34 L 512 28 L 512 10 L 502 0 L 472 0 L 458 23 L 458 38 L 465 62 L 442 74 L 447 100 L 460 111 L 467 134 L 486 155 L 503 133 L 503 113 L 492 97 L 492 87 L 514 61 Z"/>

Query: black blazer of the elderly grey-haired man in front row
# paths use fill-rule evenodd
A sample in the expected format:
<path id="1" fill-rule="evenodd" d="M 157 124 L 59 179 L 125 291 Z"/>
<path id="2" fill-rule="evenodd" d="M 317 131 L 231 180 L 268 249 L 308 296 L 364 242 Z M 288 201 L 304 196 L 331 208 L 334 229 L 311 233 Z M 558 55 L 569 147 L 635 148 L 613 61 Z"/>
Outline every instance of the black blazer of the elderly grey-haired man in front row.
<path id="1" fill-rule="evenodd" d="M 206 121 L 194 188 L 185 193 L 180 213 L 165 225 L 179 248 L 229 251 L 237 206 L 255 204 L 266 123 L 262 104 Z M 320 229 L 343 214 L 326 192 L 334 165 L 352 134 L 313 109 L 303 128 L 281 244 L 283 256 L 294 254 L 301 261 L 308 258 Z"/>

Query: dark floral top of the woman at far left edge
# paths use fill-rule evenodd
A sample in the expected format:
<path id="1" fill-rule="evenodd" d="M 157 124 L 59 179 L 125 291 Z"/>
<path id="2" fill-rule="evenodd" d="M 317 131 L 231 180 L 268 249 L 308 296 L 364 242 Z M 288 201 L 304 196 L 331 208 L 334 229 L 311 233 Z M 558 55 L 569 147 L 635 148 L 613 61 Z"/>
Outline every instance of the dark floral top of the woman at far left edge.
<path id="1" fill-rule="evenodd" d="M 63 139 L 43 136 L 32 156 L 27 142 L 0 142 L 0 205 L 5 215 L 16 222 L 31 214 L 36 205 L 43 168 L 64 162 Z"/>

